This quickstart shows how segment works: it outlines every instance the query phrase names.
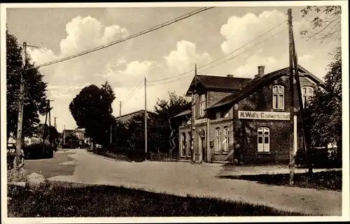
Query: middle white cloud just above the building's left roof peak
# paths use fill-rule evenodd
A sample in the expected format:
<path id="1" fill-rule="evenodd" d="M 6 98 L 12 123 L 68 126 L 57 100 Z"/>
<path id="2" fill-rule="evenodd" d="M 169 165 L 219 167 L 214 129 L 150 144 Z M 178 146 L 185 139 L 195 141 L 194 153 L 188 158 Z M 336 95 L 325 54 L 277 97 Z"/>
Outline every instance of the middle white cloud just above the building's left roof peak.
<path id="1" fill-rule="evenodd" d="M 177 72 L 185 72 L 189 68 L 194 68 L 195 63 L 204 64 L 211 59 L 207 52 L 202 54 L 197 53 L 195 43 L 188 40 L 178 41 L 176 44 L 176 50 L 169 53 L 165 57 L 167 66 L 176 70 Z"/>

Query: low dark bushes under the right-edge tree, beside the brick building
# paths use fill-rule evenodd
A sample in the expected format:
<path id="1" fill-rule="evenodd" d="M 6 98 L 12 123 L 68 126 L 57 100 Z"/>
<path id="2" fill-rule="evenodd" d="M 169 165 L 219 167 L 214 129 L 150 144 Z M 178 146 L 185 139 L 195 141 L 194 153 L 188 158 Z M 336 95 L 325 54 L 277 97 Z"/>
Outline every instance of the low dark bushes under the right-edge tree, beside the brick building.
<path id="1" fill-rule="evenodd" d="M 309 149 L 311 158 L 311 164 L 314 168 L 330 168 L 330 167 L 342 167 L 337 156 L 334 153 L 334 149 L 328 149 L 326 147 L 318 147 Z M 295 155 L 295 165 L 307 166 L 307 155 L 304 150 L 297 151 Z"/>

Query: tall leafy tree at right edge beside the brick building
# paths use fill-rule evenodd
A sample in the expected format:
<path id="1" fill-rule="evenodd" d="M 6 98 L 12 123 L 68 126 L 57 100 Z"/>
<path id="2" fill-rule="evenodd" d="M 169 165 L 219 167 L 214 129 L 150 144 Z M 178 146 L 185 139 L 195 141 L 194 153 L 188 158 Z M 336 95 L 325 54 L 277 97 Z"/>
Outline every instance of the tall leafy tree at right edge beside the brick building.
<path id="1" fill-rule="evenodd" d="M 324 87 L 314 91 L 314 98 L 306 110 L 309 117 L 309 139 L 314 146 L 337 145 L 342 155 L 342 50 L 335 50 L 335 58 L 328 65 Z"/>

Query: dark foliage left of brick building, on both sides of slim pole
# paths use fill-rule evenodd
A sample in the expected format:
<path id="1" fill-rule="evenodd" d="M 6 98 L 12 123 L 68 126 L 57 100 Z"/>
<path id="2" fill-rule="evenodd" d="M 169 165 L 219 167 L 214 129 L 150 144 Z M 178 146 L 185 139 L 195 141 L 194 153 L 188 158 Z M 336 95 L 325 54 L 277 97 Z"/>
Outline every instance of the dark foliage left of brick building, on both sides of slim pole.
<path id="1" fill-rule="evenodd" d="M 171 118 L 189 109 L 190 102 L 182 96 L 176 96 L 174 92 L 169 93 L 169 100 L 158 99 L 154 112 L 148 113 L 148 151 L 169 153 L 172 149 L 177 149 L 176 137 L 180 124 Z M 123 130 L 123 133 L 116 134 L 116 142 L 119 141 L 118 146 L 125 144 L 126 147 L 132 149 L 144 149 L 144 114 L 135 114 L 125 124 L 118 125 Z M 118 128 L 116 129 L 118 131 Z"/>

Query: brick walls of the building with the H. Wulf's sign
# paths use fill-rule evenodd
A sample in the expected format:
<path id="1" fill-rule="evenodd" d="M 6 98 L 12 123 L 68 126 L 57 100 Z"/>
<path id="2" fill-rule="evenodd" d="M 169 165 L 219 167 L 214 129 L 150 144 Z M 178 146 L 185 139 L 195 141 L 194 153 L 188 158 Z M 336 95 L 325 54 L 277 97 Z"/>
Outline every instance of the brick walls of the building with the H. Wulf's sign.
<path id="1" fill-rule="evenodd" d="M 273 109 L 272 105 L 272 87 L 274 85 L 282 85 L 284 87 L 284 109 Z M 300 77 L 301 87 L 314 85 L 306 77 Z M 262 89 L 258 89 L 254 94 L 248 96 L 244 100 L 232 107 L 226 107 L 225 110 L 229 111 L 227 118 L 216 119 L 215 114 L 209 114 L 209 133 L 207 133 L 207 121 L 202 121 L 200 124 L 195 124 L 193 148 L 195 152 L 195 160 L 200 160 L 202 154 L 199 149 L 199 137 L 197 131 L 204 129 L 207 139 L 207 161 L 233 161 L 234 158 L 239 158 L 244 163 L 288 163 L 290 155 L 290 123 L 289 121 L 278 120 L 258 120 L 258 119 L 238 119 L 239 110 L 248 111 L 266 111 L 266 112 L 289 112 L 290 107 L 290 94 L 289 94 L 289 78 L 283 76 L 278 80 L 275 80 L 271 84 L 267 84 Z M 209 91 L 206 93 L 207 107 L 213 105 L 230 93 Z M 294 102 L 296 111 L 298 114 L 298 97 L 297 87 L 294 89 Z M 195 120 L 199 121 L 200 117 L 200 94 L 195 94 Z M 298 115 L 299 116 L 299 115 Z M 228 153 L 215 153 L 216 142 L 216 128 L 221 128 L 221 138 L 223 140 L 224 131 L 223 128 L 228 126 L 230 128 L 230 151 Z M 298 148 L 302 147 L 302 133 L 300 129 L 300 117 L 297 119 L 297 142 Z M 257 131 L 259 127 L 269 128 L 269 153 L 258 152 L 258 136 Z M 179 128 L 179 134 L 183 132 L 190 132 L 190 126 L 187 128 Z M 186 135 L 187 136 L 187 135 Z M 210 142 L 213 142 L 214 147 L 210 147 Z M 190 146 L 189 146 L 190 147 Z M 190 157 L 186 157 L 190 159 Z"/>

